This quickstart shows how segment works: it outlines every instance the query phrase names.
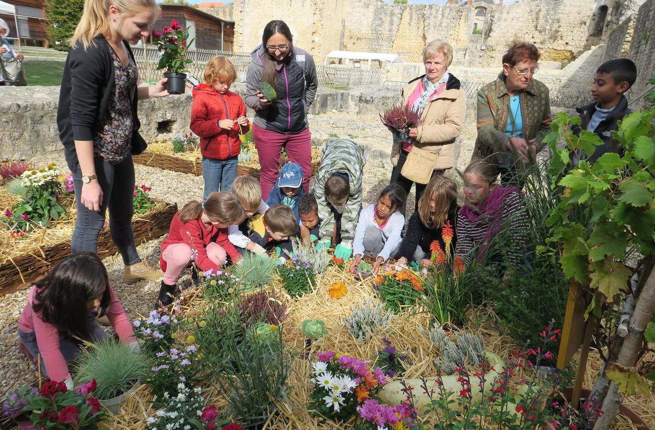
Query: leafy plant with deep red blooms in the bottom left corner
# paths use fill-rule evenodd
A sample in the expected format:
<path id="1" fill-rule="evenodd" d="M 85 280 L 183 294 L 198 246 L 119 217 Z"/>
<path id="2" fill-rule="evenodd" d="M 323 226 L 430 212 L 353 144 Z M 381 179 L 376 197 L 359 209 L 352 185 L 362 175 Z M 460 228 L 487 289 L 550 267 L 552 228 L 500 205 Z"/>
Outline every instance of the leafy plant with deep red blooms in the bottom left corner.
<path id="1" fill-rule="evenodd" d="M 79 385 L 75 391 L 67 389 L 64 382 L 49 381 L 28 395 L 29 405 L 24 411 L 31 412 L 29 419 L 36 429 L 96 430 L 107 415 L 91 395 L 95 388 L 96 380 Z"/>

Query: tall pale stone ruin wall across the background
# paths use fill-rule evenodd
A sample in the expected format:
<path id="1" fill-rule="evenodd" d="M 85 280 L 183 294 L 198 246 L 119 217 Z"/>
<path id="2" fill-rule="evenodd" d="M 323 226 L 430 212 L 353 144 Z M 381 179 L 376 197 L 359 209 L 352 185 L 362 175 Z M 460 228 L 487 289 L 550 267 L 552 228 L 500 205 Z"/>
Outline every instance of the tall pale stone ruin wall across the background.
<path id="1" fill-rule="evenodd" d="M 331 50 L 399 52 L 421 62 L 422 47 L 445 39 L 461 65 L 495 65 L 514 39 L 533 42 L 544 60 L 569 62 L 582 54 L 595 0 L 519 0 L 511 5 L 393 5 L 382 0 L 234 0 L 207 9 L 232 18 L 234 50 L 250 51 L 272 19 L 289 24 L 295 42 L 317 63 Z M 483 35 L 472 34 L 476 10 L 486 9 Z M 232 13 L 229 16 L 229 12 Z"/>

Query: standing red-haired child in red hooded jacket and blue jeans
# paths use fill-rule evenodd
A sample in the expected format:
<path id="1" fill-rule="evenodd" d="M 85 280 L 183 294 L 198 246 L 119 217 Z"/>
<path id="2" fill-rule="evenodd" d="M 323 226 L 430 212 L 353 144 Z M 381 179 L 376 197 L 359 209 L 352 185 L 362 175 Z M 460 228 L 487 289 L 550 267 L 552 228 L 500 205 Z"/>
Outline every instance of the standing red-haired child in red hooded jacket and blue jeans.
<path id="1" fill-rule="evenodd" d="M 200 137 L 203 200 L 214 191 L 230 192 L 241 150 L 239 134 L 250 130 L 243 99 L 230 91 L 236 81 L 234 64 L 214 57 L 205 66 L 204 80 L 193 87 L 191 131 Z"/>

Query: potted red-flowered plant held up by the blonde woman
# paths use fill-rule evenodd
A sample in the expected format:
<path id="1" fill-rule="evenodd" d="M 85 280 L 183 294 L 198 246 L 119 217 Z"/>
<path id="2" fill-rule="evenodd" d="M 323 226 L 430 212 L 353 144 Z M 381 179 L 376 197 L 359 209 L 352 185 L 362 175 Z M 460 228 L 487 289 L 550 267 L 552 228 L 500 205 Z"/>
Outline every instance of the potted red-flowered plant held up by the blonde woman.
<path id="1" fill-rule="evenodd" d="M 170 26 L 162 29 L 162 32 L 153 29 L 154 43 L 162 53 L 159 58 L 157 70 L 166 69 L 164 78 L 167 78 L 166 89 L 169 94 L 183 94 L 187 64 L 191 63 L 185 57 L 187 44 L 193 43 L 195 39 L 189 40 L 189 27 L 180 27 L 178 20 L 172 20 Z"/>

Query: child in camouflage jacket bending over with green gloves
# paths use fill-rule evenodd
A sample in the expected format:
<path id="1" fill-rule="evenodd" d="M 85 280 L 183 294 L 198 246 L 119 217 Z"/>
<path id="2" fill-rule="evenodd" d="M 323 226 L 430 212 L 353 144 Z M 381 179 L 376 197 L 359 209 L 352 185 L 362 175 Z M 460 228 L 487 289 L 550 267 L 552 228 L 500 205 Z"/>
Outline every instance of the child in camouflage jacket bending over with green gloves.
<path id="1" fill-rule="evenodd" d="M 335 209 L 341 216 L 341 243 L 334 250 L 337 259 L 352 255 L 352 240 L 362 210 L 362 175 L 366 164 L 364 149 L 348 139 L 327 142 L 322 150 L 321 165 L 316 172 L 314 195 L 318 204 L 318 243 L 316 248 L 329 248 L 335 225 Z"/>

